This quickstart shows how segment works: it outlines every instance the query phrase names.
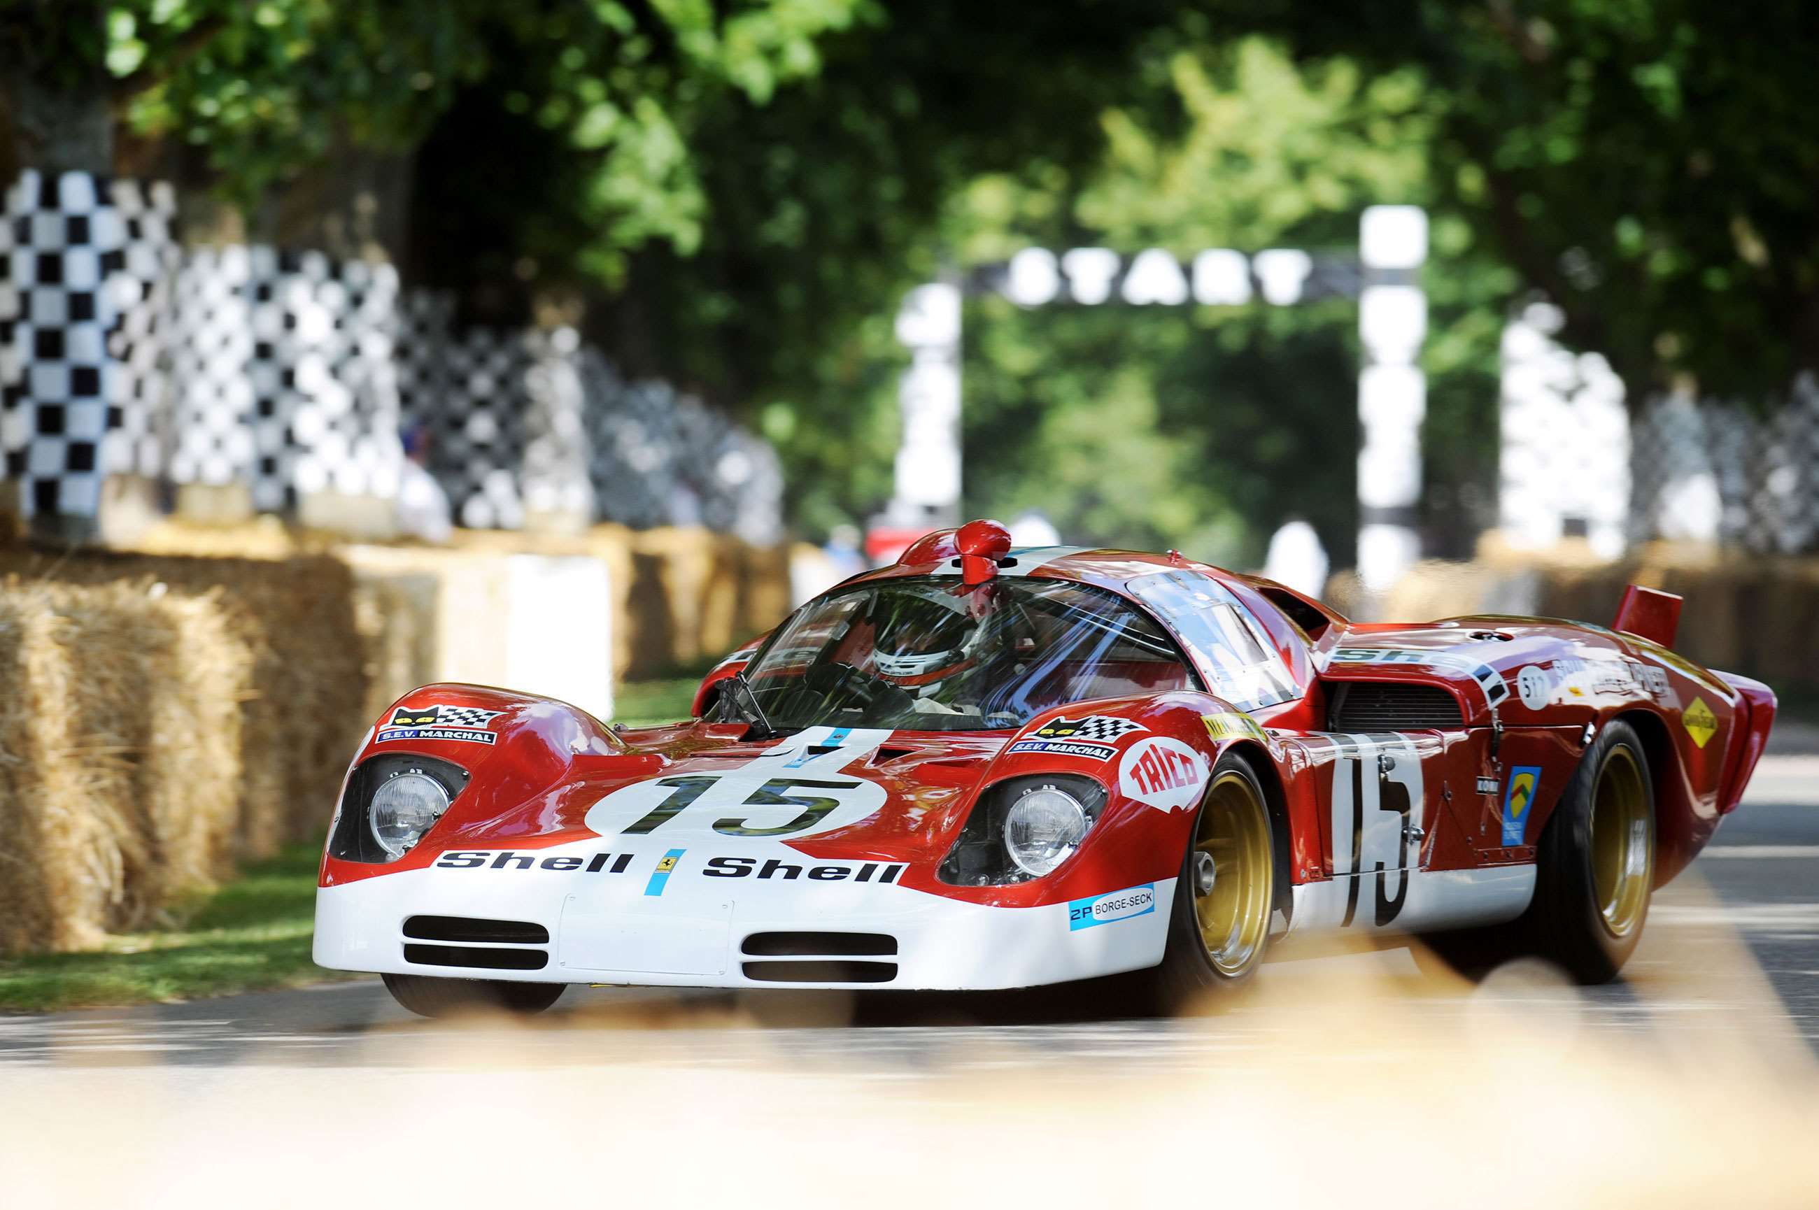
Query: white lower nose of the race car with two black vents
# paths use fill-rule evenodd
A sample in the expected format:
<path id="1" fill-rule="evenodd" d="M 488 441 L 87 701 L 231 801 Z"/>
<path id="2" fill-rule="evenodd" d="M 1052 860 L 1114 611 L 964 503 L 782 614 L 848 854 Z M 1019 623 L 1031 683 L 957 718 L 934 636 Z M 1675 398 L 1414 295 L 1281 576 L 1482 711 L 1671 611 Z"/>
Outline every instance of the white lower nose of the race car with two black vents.
<path id="1" fill-rule="evenodd" d="M 1157 964 L 1175 890 L 1170 879 L 1073 904 L 990 908 L 895 884 L 809 881 L 806 872 L 769 882 L 702 877 L 698 870 L 677 870 L 658 882 L 648 872 L 648 864 L 626 877 L 433 866 L 326 886 L 317 892 L 315 961 L 331 970 L 526 983 L 1020 988 Z M 549 941 L 406 937 L 406 921 L 417 915 L 538 924 Z M 895 943 L 895 953 L 753 955 L 746 950 L 755 933 L 880 933 Z M 424 944 L 442 950 L 407 948 Z M 762 941 L 751 944 L 764 948 Z M 542 964 L 502 970 L 422 961 L 447 957 L 449 948 L 509 950 L 518 955 L 509 961 Z M 815 966 L 820 961 L 882 966 Z M 808 966 L 782 966 L 795 963 Z M 864 977 L 853 977 L 855 970 Z"/>

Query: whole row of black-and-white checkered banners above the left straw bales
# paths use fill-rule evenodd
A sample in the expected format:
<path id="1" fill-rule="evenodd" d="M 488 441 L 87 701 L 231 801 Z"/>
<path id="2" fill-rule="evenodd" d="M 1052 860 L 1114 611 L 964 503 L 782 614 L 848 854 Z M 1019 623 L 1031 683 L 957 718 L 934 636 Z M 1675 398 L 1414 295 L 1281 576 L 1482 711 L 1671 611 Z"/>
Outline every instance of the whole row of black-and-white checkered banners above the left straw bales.
<path id="1" fill-rule="evenodd" d="M 25 173 L 0 222 L 0 453 L 27 515 L 95 517 L 111 473 L 395 499 L 402 433 L 469 528 L 526 515 L 782 537 L 775 451 L 573 329 L 457 328 L 391 266 L 180 251 L 169 186 Z"/>

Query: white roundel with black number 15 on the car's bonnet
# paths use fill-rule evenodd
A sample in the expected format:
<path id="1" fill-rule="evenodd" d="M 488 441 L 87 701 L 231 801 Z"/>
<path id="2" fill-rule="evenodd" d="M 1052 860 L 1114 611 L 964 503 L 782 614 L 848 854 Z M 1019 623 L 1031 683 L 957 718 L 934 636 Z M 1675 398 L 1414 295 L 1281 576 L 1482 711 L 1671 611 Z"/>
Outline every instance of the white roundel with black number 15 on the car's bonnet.
<path id="1" fill-rule="evenodd" d="M 684 841 L 808 837 L 875 815 L 884 786 L 846 773 L 886 730 L 808 728 L 751 761 L 711 773 L 677 773 L 624 786 L 588 812 L 600 835 Z"/>

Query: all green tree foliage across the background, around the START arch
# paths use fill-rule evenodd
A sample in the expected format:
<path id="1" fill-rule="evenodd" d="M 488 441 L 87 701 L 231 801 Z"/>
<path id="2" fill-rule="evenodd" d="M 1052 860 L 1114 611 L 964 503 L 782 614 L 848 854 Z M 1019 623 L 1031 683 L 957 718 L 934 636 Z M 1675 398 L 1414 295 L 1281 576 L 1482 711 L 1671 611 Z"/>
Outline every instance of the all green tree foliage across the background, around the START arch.
<path id="1" fill-rule="evenodd" d="M 1810 13 L 13 0 L 0 51 L 69 80 L 102 64 L 136 129 L 200 147 L 244 200 L 335 147 L 424 140 L 417 277 L 489 317 L 588 297 L 629 371 L 762 426 L 809 533 L 888 495 L 889 318 L 944 264 L 1339 247 L 1362 206 L 1422 202 L 1428 508 L 1452 550 L 1488 506 L 1519 289 L 1553 297 L 1633 400 L 1666 380 L 1766 398 L 1819 364 Z M 1302 513 L 1346 550 L 1344 308 L 968 318 L 970 509 L 1233 559 Z M 1144 469 L 1144 491 L 1104 468 Z"/>

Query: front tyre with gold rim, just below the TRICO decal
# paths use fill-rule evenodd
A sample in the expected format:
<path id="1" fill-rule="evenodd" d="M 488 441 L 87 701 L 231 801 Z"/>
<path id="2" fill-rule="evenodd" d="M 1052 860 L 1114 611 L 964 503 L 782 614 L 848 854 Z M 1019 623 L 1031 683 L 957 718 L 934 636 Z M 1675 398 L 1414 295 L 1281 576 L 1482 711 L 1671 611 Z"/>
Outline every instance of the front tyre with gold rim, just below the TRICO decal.
<path id="1" fill-rule="evenodd" d="M 1233 993 L 1270 948 L 1275 908 L 1275 828 L 1250 764 L 1226 755 L 1193 821 L 1157 968 L 1166 1008 Z"/>

